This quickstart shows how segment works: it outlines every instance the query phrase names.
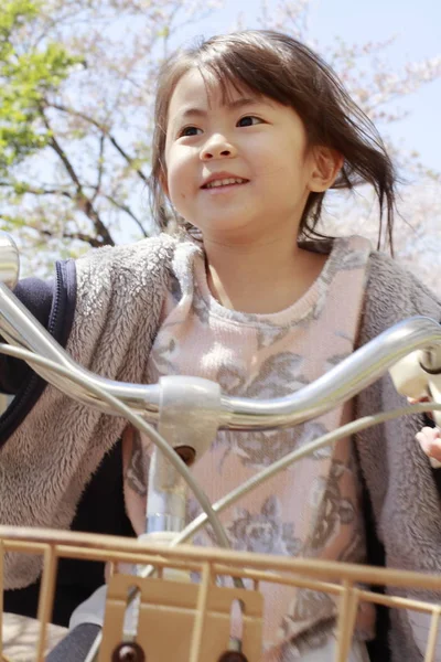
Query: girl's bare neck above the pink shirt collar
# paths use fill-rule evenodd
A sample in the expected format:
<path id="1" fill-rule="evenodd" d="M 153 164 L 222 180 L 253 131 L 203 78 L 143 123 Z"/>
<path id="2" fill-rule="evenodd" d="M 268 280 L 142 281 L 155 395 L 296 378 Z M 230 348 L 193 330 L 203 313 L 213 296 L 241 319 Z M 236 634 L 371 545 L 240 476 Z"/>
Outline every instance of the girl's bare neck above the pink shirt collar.
<path id="1" fill-rule="evenodd" d="M 255 244 L 204 238 L 204 248 L 213 296 L 226 308 L 250 313 L 278 312 L 294 303 L 326 259 L 286 237 Z"/>

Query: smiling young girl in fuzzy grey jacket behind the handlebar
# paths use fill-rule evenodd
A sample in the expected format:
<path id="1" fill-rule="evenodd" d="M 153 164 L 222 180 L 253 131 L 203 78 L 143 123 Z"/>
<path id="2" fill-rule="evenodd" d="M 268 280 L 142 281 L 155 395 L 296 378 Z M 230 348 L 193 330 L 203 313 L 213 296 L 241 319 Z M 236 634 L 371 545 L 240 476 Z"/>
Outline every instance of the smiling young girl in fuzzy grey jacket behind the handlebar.
<path id="1" fill-rule="evenodd" d="M 391 244 L 392 164 L 334 74 L 283 34 L 213 38 L 176 53 L 159 76 L 153 210 L 162 227 L 172 214 L 180 229 L 60 264 L 57 295 L 39 285 L 43 305 L 29 293 L 35 285 L 18 292 L 75 360 L 110 378 L 192 374 L 228 394 L 286 395 L 399 320 L 441 319 L 435 297 L 365 239 L 318 232 L 326 191 L 359 183 L 375 188 L 379 241 Z M 10 364 L 3 382 L 17 391 L 24 373 L 11 380 Z M 386 376 L 294 430 L 219 433 L 196 478 L 214 501 L 295 446 L 400 402 Z M 389 423 L 279 474 L 224 514 L 233 546 L 441 572 L 439 479 L 415 442 L 421 425 L 417 417 Z M 98 530 L 90 503 L 99 520 L 109 484 L 120 492 L 122 435 L 126 509 L 141 533 L 146 485 L 123 421 L 86 413 L 32 377 L 6 428 L 2 522 L 68 527 L 79 502 L 74 526 Z M 18 493 L 19 505 L 10 496 Z M 192 502 L 189 509 L 195 514 Z M 115 520 L 99 531 L 130 528 L 122 515 Z M 196 542 L 211 544 L 209 532 Z M 11 562 L 10 588 L 35 580 L 37 559 L 26 564 Z M 68 572 L 61 575 L 68 583 Z M 84 591 L 93 584 L 84 581 Z M 62 587 L 65 610 L 67 594 Z M 277 588 L 265 599 L 266 660 L 332 659 L 332 600 Z M 384 620 L 362 610 L 351 660 L 366 660 L 367 648 L 377 660 L 422 660 L 420 629 L 407 613 L 392 613 L 386 629 L 387 642 Z M 372 640 L 380 648 L 365 643 Z"/>

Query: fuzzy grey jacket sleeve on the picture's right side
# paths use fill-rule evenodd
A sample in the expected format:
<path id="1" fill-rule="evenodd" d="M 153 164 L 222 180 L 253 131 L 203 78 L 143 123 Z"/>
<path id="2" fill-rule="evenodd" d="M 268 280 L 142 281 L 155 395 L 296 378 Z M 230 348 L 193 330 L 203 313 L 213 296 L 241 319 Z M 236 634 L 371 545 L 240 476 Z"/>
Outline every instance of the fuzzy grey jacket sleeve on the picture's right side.
<path id="1" fill-rule="evenodd" d="M 359 345 L 397 322 L 415 316 L 441 320 L 441 303 L 415 276 L 381 254 L 373 254 L 362 314 Z M 406 405 L 385 374 L 355 398 L 356 417 Z M 441 573 L 441 470 L 433 470 L 415 440 L 426 420 L 406 416 L 362 430 L 355 437 L 364 481 L 368 562 L 394 568 Z M 421 591 L 408 597 L 430 599 Z M 433 595 L 433 594 L 432 594 Z M 418 622 L 405 609 L 378 609 L 375 660 L 423 660 L 421 637 L 426 615 Z M 389 617 L 390 620 L 388 620 Z M 422 622 L 424 621 L 424 622 Z M 386 650 L 388 641 L 391 658 Z M 424 641 L 422 641 L 424 639 Z M 437 661 L 441 650 L 437 650 Z"/>

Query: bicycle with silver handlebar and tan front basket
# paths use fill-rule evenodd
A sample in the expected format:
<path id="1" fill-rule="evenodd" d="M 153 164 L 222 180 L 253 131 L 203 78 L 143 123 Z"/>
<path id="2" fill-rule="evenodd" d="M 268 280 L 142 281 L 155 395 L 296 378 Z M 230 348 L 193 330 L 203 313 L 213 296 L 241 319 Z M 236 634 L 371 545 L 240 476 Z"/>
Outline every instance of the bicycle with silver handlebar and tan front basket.
<path id="1" fill-rule="evenodd" d="M 435 659 L 441 601 L 435 604 L 392 594 L 381 595 L 362 588 L 362 585 L 433 591 L 441 590 L 440 576 L 182 544 L 208 521 L 219 544 L 227 546 L 228 540 L 217 519 L 218 512 L 277 471 L 338 438 L 409 412 L 434 412 L 437 423 L 441 423 L 441 331 L 435 322 L 426 318 L 401 322 L 291 397 L 252 403 L 223 396 L 217 385 L 205 380 L 166 377 L 159 385 L 146 386 L 108 382 L 92 375 L 75 365 L 14 299 L 9 288 L 14 285 L 17 274 L 17 250 L 13 243 L 3 235 L 0 242 L 0 331 L 11 345 L 3 344 L 0 350 L 28 361 L 41 376 L 79 402 L 106 413 L 123 414 L 157 446 L 154 461 L 151 462 L 149 485 L 152 485 L 152 491 L 148 499 L 150 510 L 147 513 L 146 537 L 128 540 L 50 530 L 0 527 L 0 564 L 4 553 L 43 555 L 36 660 L 42 660 L 46 650 L 46 629 L 51 619 L 56 565 L 61 557 L 106 560 L 115 570 L 107 587 L 103 637 L 94 643 L 87 662 L 96 659 L 99 662 L 137 662 L 143 659 L 150 662 L 165 659 L 176 662 L 257 662 L 261 656 L 263 618 L 259 586 L 263 581 L 309 588 L 336 598 L 338 615 L 335 659 L 340 662 L 346 660 L 349 653 L 361 602 L 412 609 L 429 615 L 431 622 L 426 660 Z M 219 426 L 232 429 L 272 429 L 308 420 L 349 399 L 386 370 L 392 371 L 395 383 L 402 393 L 419 396 L 421 391 L 430 388 L 434 403 L 384 413 L 333 430 L 260 471 L 213 506 L 192 479 L 187 466 L 201 457 Z M 185 425 L 195 419 L 198 421 L 197 434 L 187 428 L 185 442 L 173 436 L 178 426 L 181 430 L 185 429 Z M 159 423 L 160 431 L 162 429 L 168 433 L 168 440 L 149 427 L 146 420 Z M 186 499 L 184 483 L 190 485 L 205 513 L 183 528 Z M 158 545 L 155 533 L 164 530 L 169 530 L 169 534 L 160 535 L 162 544 Z M 138 567 L 138 575 L 118 572 L 120 563 Z M 151 576 L 153 573 L 154 577 Z M 200 573 L 198 585 L 182 580 L 189 578 L 191 573 Z M 232 578 L 235 586 L 216 586 L 217 576 Z M 0 578 L 3 584 L 1 565 Z M 244 580 L 251 584 L 250 588 L 244 588 Z M 135 612 L 132 621 L 137 627 L 132 624 L 131 631 L 125 632 L 126 608 L 129 602 L 136 606 L 136 609 L 131 609 Z M 230 637 L 232 605 L 235 602 L 239 602 L 241 607 L 243 631 L 239 642 Z M 2 615 L 0 609 L 1 616 L 10 618 Z M 34 624 L 31 622 L 32 627 Z M 170 630 L 176 634 L 174 640 L 164 637 L 164 632 Z M 50 642 L 52 639 L 53 643 L 61 634 L 52 630 Z M 180 642 L 179 651 L 176 639 Z"/>

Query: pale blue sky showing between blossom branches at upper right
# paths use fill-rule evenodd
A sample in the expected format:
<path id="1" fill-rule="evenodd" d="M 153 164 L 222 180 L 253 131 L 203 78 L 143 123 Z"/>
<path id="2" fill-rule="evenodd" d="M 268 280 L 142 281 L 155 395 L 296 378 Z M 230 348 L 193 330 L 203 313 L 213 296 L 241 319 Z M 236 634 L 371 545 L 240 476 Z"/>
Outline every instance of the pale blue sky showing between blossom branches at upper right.
<path id="1" fill-rule="evenodd" d="M 267 0 L 267 12 L 277 10 L 278 0 Z M 223 9 L 211 18 L 189 26 L 181 39 L 225 32 L 238 14 L 245 26 L 258 26 L 260 0 L 225 0 Z M 320 43 L 332 43 L 336 36 L 345 42 L 363 44 L 396 36 L 385 51 L 391 67 L 441 55 L 441 2 L 439 0 L 311 0 L 309 34 Z M 421 161 L 441 172 L 441 77 L 400 99 L 394 107 L 409 117 L 388 127 L 396 143 L 416 150 Z"/>

